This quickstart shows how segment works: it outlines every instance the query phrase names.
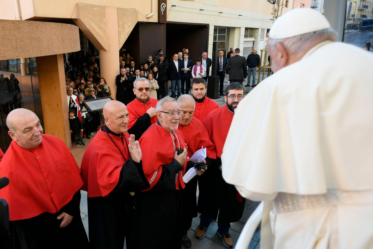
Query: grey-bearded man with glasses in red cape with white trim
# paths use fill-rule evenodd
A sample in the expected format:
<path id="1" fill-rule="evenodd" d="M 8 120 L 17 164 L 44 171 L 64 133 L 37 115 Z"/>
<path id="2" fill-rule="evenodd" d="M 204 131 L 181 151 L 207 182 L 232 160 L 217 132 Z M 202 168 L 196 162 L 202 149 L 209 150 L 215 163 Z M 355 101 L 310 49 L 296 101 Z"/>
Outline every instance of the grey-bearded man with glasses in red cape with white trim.
<path id="1" fill-rule="evenodd" d="M 194 163 L 186 158 L 184 137 L 178 130 L 182 112 L 176 100 L 169 96 L 159 100 L 156 113 L 158 121 L 140 138 L 150 188 L 138 193 L 131 234 L 137 248 L 175 249 L 181 248 L 182 171 Z"/>

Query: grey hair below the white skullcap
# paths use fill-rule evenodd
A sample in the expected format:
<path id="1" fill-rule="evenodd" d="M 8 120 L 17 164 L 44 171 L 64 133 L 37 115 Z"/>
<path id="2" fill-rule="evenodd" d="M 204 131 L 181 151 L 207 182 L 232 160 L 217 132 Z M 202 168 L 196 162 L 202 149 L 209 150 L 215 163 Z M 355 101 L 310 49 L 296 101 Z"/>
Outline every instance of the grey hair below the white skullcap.
<path id="1" fill-rule="evenodd" d="M 337 33 L 332 28 L 322 29 L 314 32 L 309 32 L 301 35 L 295 35 L 293 37 L 274 39 L 270 38 L 267 41 L 267 47 L 274 48 L 277 44 L 282 43 L 285 49 L 295 54 L 304 49 L 310 49 L 312 45 L 323 41 L 335 41 Z"/>

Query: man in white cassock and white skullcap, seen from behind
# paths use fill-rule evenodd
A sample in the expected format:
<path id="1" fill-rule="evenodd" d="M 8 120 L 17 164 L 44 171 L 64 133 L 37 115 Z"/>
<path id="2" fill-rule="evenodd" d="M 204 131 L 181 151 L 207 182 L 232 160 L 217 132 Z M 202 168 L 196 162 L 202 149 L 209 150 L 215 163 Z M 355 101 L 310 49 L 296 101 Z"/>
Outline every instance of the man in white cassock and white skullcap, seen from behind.
<path id="1" fill-rule="evenodd" d="M 264 200 L 260 248 L 373 248 L 373 56 L 321 13 L 278 18 L 273 75 L 238 105 L 224 180 Z"/>

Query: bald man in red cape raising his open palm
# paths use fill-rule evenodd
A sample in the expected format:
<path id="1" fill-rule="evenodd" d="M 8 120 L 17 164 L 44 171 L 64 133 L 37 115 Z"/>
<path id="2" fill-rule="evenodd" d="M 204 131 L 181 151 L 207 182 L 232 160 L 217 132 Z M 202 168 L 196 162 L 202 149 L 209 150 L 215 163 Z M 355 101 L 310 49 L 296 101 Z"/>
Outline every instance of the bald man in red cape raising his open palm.
<path id="1" fill-rule="evenodd" d="M 88 232 L 91 248 L 123 248 L 132 245 L 131 219 L 134 192 L 149 188 L 142 171 L 141 149 L 129 135 L 128 111 L 112 100 L 103 109 L 105 124 L 84 153 L 82 190 L 88 192 Z"/>

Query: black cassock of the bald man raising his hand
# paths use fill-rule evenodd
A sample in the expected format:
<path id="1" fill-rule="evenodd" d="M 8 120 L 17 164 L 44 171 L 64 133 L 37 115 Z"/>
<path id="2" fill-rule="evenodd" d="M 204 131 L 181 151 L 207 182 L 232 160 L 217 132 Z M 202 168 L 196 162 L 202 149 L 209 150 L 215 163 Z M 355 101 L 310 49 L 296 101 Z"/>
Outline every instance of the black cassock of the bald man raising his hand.
<path id="1" fill-rule="evenodd" d="M 125 239 L 127 249 L 137 248 L 128 236 L 134 213 L 134 196 L 130 192 L 148 187 L 142 163 L 130 158 L 109 196 L 88 197 L 90 248 L 123 248 Z"/>

